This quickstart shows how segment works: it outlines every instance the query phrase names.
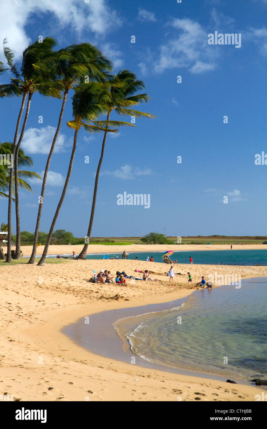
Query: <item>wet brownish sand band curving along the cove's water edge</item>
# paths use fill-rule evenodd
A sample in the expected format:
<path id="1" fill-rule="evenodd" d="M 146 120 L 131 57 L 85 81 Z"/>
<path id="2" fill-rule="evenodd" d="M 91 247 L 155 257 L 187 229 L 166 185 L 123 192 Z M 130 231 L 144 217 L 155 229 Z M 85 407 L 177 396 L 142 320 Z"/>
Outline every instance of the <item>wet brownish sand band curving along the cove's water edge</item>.
<path id="1" fill-rule="evenodd" d="M 257 278 L 250 278 L 249 280 L 257 281 Z M 215 286 L 216 288 L 219 286 Z M 198 293 L 201 291 L 198 290 Z M 144 304 L 137 307 L 124 307 L 124 308 L 116 308 L 105 310 L 98 313 L 89 314 L 90 322 L 88 323 L 93 325 L 93 329 L 95 332 L 84 332 L 83 329 L 83 317 L 80 317 L 75 322 L 64 326 L 61 329 L 61 332 L 74 341 L 79 347 L 83 347 L 85 350 L 90 353 L 96 354 L 98 356 L 106 357 L 108 359 L 114 359 L 119 362 L 131 363 L 134 355 L 135 363 L 137 366 L 141 366 L 142 368 L 155 369 L 163 372 L 170 372 L 177 375 L 187 375 L 189 377 L 202 377 L 208 378 L 217 381 L 226 381 L 226 378 L 234 378 L 237 384 L 243 384 L 245 386 L 252 386 L 249 380 L 246 379 L 238 379 L 234 375 L 222 375 L 219 372 L 203 372 L 193 369 L 188 369 L 186 367 L 171 367 L 164 366 L 162 364 L 157 364 L 153 361 L 142 359 L 140 356 L 136 355 L 131 351 L 131 345 L 127 340 L 126 336 L 123 332 L 120 332 L 120 322 L 122 320 L 126 321 L 127 319 L 134 318 L 135 323 L 131 326 L 131 329 L 135 329 L 136 323 L 140 323 L 140 320 L 137 322 L 137 317 L 140 317 L 141 320 L 145 315 L 164 312 L 168 310 L 172 310 L 174 308 L 181 307 L 192 295 L 192 293 L 196 293 L 197 290 L 191 290 L 186 296 L 180 299 L 175 299 L 168 302 L 160 302 L 160 303 L 150 303 Z M 114 312 L 113 312 L 114 311 Z M 112 330 L 113 329 L 113 330 Z M 131 330 L 130 329 L 130 330 Z M 99 337 L 101 337 L 101 341 L 99 341 Z"/>

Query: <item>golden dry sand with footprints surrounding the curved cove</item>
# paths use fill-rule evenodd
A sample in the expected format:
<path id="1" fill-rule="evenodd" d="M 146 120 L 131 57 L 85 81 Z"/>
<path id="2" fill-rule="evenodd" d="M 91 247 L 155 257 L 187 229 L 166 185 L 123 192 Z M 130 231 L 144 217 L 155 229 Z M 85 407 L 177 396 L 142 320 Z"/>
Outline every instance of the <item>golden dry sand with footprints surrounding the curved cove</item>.
<path id="1" fill-rule="evenodd" d="M 103 247 L 96 246 L 94 251 Z M 70 247 L 51 248 L 57 248 L 55 253 L 68 253 Z M 78 252 L 75 246 L 71 249 Z M 110 246 L 103 248 L 104 252 L 110 250 Z M 27 254 L 28 249 L 23 251 Z M 168 302 L 192 293 L 194 289 L 187 285 L 189 265 L 175 267 L 183 275 L 175 277 L 173 286 L 164 274 L 167 267 L 133 260 L 62 260 L 42 267 L 1 267 L 0 394 L 8 393 L 21 401 L 195 401 L 197 397 L 200 401 L 255 401 L 262 387 L 110 360 L 79 347 L 60 332 L 63 326 L 96 312 Z M 110 269 L 113 274 L 125 270 L 134 275 L 135 269 L 147 268 L 162 285 L 128 281 L 128 286 L 122 287 L 87 281 L 93 269 Z M 267 267 L 262 266 L 190 266 L 193 279 L 215 271 L 241 274 L 242 278 L 267 276 Z"/>

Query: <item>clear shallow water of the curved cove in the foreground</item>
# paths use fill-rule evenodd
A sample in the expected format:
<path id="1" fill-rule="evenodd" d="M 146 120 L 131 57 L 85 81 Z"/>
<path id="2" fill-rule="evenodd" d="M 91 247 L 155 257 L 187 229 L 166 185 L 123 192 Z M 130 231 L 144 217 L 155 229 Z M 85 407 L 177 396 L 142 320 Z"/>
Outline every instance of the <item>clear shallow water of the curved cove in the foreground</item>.
<path id="1" fill-rule="evenodd" d="M 266 379 L 266 303 L 267 278 L 249 279 L 240 289 L 199 290 L 178 308 L 114 326 L 132 353 L 148 362 L 234 380 Z"/>

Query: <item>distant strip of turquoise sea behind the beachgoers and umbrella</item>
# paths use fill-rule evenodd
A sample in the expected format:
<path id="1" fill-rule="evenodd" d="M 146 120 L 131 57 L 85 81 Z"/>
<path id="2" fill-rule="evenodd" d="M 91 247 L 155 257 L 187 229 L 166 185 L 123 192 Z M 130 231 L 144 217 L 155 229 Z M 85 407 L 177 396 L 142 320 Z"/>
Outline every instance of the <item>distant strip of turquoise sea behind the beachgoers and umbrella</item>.
<path id="1" fill-rule="evenodd" d="M 240 246 L 242 247 L 242 246 Z M 171 249 L 171 247 L 170 247 Z M 109 253 L 108 257 L 115 258 L 117 255 L 121 259 L 120 253 Z M 153 256 L 154 262 L 161 262 L 162 254 L 164 252 L 128 252 L 128 259 L 134 260 L 135 257 L 138 257 L 139 261 L 145 261 L 147 256 Z M 48 255 L 48 257 L 56 257 L 57 255 Z M 70 256 L 62 255 L 62 256 Z M 189 263 L 189 256 L 192 256 L 193 263 L 202 264 L 202 265 L 261 265 L 267 266 L 267 245 L 266 250 L 211 250 L 211 251 L 178 251 L 174 252 L 171 255 L 171 260 L 178 261 L 178 263 L 186 264 Z M 88 254 L 86 259 L 103 259 L 103 254 Z"/>

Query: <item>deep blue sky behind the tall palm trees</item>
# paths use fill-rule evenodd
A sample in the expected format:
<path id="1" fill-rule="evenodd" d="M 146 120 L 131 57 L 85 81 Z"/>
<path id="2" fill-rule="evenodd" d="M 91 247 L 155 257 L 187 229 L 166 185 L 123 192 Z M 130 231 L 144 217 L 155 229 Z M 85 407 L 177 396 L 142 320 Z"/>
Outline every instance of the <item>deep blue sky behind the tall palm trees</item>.
<path id="1" fill-rule="evenodd" d="M 136 119 L 136 128 L 107 137 L 92 236 L 163 233 L 163 227 L 172 236 L 266 235 L 267 165 L 255 165 L 255 154 L 267 154 L 267 1 L 244 6 L 239 0 L 15 0 L 1 8 L 5 22 L 0 39 L 6 37 L 18 56 L 39 35 L 54 37 L 59 48 L 77 36 L 77 43 L 102 49 L 114 71 L 136 73 L 151 97 L 140 110 L 155 119 Z M 208 34 L 215 31 L 241 34 L 241 47 L 209 45 Z M 8 79 L 6 73 L 0 82 Z M 51 161 L 41 231 L 49 230 L 69 165 L 71 96 Z M 0 100 L 1 141 L 13 141 L 20 103 Z M 33 157 L 36 172 L 45 168 L 60 105 L 60 100 L 33 96 L 22 148 Z M 80 131 L 56 229 L 86 235 L 101 145 L 102 134 Z M 21 230 L 30 232 L 41 181 L 32 187 L 33 194 L 20 193 Z M 150 194 L 150 208 L 117 205 L 117 195 L 124 191 Z M 4 199 L 0 215 L 7 222 Z"/>

